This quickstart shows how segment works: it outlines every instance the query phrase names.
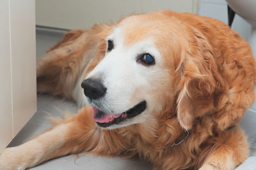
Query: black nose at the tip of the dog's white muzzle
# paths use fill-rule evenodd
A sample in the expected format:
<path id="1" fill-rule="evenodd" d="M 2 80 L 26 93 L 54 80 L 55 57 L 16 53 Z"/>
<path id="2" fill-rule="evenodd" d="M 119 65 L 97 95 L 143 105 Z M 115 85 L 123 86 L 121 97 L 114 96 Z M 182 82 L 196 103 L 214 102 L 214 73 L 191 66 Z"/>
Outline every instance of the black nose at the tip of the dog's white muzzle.
<path id="1" fill-rule="evenodd" d="M 84 80 L 81 86 L 84 89 L 85 96 L 89 99 L 99 99 L 107 91 L 107 88 L 99 80 L 93 80 L 92 78 Z"/>

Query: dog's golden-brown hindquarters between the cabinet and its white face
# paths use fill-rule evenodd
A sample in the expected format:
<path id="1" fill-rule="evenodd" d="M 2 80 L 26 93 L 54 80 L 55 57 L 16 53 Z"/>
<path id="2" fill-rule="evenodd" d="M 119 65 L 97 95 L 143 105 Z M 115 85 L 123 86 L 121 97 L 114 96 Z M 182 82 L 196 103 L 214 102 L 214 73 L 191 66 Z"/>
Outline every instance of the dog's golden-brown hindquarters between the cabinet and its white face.
<path id="1" fill-rule="evenodd" d="M 104 57 L 105 38 L 111 30 L 111 25 L 95 24 L 91 29 L 67 32 L 36 61 L 38 92 L 71 98 L 86 64 L 90 62 L 90 70 Z"/>

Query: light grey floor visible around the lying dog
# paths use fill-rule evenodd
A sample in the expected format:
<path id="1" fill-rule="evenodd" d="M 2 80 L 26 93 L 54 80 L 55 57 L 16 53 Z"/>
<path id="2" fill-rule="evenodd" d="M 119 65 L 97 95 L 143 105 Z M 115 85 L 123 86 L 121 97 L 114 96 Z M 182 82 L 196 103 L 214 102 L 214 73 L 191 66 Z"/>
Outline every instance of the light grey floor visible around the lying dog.
<path id="1" fill-rule="evenodd" d="M 43 55 L 49 47 L 54 45 L 61 37 L 63 32 L 49 32 L 45 30 L 36 31 L 36 55 L 37 57 Z M 75 103 L 70 101 L 64 101 L 63 99 L 52 97 L 49 95 L 38 95 L 37 97 L 38 111 L 29 120 L 28 124 L 15 136 L 9 146 L 20 145 L 28 139 L 40 134 L 45 129 L 51 127 L 50 120 L 47 118 L 48 114 L 56 117 L 61 117 L 61 113 L 66 111 L 76 114 L 77 107 Z M 246 160 L 244 164 L 239 166 L 237 169 L 256 169 L 256 113 L 248 111 L 241 127 L 248 135 L 251 143 L 250 158 Z M 134 160 L 123 160 L 119 158 L 109 157 L 95 157 L 93 155 L 84 155 L 76 159 L 74 155 L 68 155 L 58 159 L 53 159 L 45 162 L 37 167 L 31 168 L 35 170 L 41 169 L 90 169 L 90 170 L 144 170 L 152 169 L 152 166 L 148 162 L 134 161 Z"/>

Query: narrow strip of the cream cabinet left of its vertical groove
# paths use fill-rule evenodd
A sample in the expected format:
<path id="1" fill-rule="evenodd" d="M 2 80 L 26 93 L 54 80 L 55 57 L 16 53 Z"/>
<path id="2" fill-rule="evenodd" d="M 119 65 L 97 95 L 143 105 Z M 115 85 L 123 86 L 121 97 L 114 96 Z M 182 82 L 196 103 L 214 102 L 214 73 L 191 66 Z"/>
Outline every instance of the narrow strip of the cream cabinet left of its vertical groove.
<path id="1" fill-rule="evenodd" d="M 8 1 L 0 0 L 0 152 L 12 139 L 12 72 Z"/>

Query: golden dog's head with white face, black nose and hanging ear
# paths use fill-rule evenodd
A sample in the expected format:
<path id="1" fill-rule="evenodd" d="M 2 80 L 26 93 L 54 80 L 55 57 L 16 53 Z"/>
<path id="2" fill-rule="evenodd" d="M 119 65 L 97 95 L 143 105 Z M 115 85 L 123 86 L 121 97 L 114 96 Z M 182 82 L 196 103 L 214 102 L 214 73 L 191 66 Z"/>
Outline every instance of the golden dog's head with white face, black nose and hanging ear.
<path id="1" fill-rule="evenodd" d="M 168 114 L 189 129 L 213 108 L 216 64 L 196 29 L 164 13 L 134 15 L 121 20 L 105 44 L 104 58 L 82 83 L 99 126 L 150 122 L 175 107 Z"/>

